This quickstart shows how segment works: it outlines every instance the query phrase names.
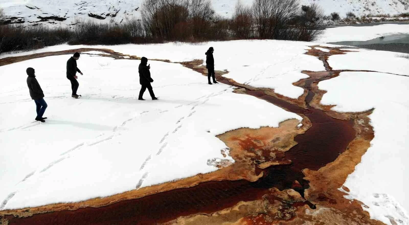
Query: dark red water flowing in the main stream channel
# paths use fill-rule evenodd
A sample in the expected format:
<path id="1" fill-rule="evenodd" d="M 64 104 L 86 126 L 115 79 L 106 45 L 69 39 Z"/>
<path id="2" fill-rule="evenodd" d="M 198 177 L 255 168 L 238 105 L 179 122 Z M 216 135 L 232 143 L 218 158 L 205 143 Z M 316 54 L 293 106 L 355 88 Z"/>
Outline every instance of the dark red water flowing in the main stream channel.
<path id="1" fill-rule="evenodd" d="M 231 85 L 227 80 L 220 82 Z M 9 225 L 152 225 L 179 216 L 219 211 L 239 201 L 260 199 L 267 189 L 288 189 L 295 180 L 301 184 L 296 190 L 303 194 L 303 189 L 308 188 L 308 182 L 303 180 L 301 170 L 317 170 L 333 162 L 355 137 L 352 121 L 333 119 L 321 110 L 303 109 L 265 95 L 262 91 L 247 90 L 246 94 L 306 115 L 312 122 L 312 127 L 305 134 L 295 137 L 298 144 L 285 152 L 285 159 L 292 160 L 291 164 L 265 169 L 265 175 L 257 182 L 205 182 L 196 187 L 176 189 L 100 208 L 56 211 L 27 218 L 7 216 Z"/>

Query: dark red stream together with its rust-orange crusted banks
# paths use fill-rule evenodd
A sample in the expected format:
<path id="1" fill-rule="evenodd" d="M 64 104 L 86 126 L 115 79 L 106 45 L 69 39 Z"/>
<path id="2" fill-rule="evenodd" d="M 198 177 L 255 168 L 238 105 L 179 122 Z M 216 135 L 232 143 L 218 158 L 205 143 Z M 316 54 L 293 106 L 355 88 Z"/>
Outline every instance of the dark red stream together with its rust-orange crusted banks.
<path id="1" fill-rule="evenodd" d="M 288 126 L 290 133 L 286 134 L 287 139 L 281 139 L 282 137 L 277 139 L 274 134 L 268 134 L 271 132 L 270 129 L 274 128 L 259 130 L 241 128 L 219 135 L 218 137 L 231 148 L 230 154 L 236 163 L 245 165 L 243 166 L 245 173 L 241 175 L 242 179 L 246 180 L 210 181 L 198 184 L 206 181 L 207 178 L 209 180 L 216 178 L 217 175 L 214 174 L 222 170 L 226 173 L 230 169 L 226 173 L 230 178 L 238 175 L 235 169 L 231 169 L 232 166 L 227 166 L 214 174 L 200 174 L 176 181 L 185 184 L 185 187 L 190 187 L 186 189 L 175 189 L 178 187 L 172 186 L 172 183 L 175 183 L 170 182 L 161 184 L 164 185 L 163 187 L 153 186 L 156 192 L 153 191 L 151 195 L 143 198 L 136 197 L 137 199 L 122 201 L 126 199 L 120 198 L 122 194 L 111 196 L 112 200 L 119 199 L 118 201 L 121 202 L 105 207 L 64 210 L 36 214 L 28 218 L 9 215 L 6 218 L 10 224 L 33 225 L 156 224 L 169 220 L 172 221 L 166 224 L 382 224 L 379 221 L 370 220 L 368 213 L 362 210 L 360 202 L 356 200 L 350 202 L 344 198 L 346 193 L 338 190 L 345 182 L 346 176 L 352 173 L 355 165 L 360 162 L 361 156 L 366 152 L 373 138 L 373 130 L 367 117 L 371 112 L 337 113 L 330 110 L 331 106 L 319 104 L 325 92 L 318 90 L 317 83 L 335 77 L 340 72 L 333 71 L 329 67 L 326 62 L 328 56 L 344 54 L 346 51 L 324 47 L 330 49 L 329 53 L 325 53 L 314 47 L 312 46 L 312 50 L 307 54 L 318 56 L 324 62 L 327 71 L 304 71 L 311 77 L 294 83 L 305 89 L 299 99 L 283 97 L 267 88 L 242 85 L 232 79 L 220 77 L 220 74 L 226 71 L 216 72 L 218 81 L 238 87 L 235 90 L 236 93 L 250 94 L 303 116 L 303 126 L 306 127 L 301 127 L 301 133 L 312 124 L 304 135 L 298 135 L 294 140 L 292 137 L 297 134 L 297 132 L 294 133 L 296 130 L 294 125 L 298 124 L 296 120 L 280 124 L 279 128 L 285 130 L 283 124 L 292 123 Z M 203 74 L 206 73 L 206 69 L 199 66 L 202 61 L 182 64 Z M 295 143 L 298 144 L 294 146 Z M 284 151 L 287 148 L 290 150 Z M 289 160 L 291 163 L 287 164 Z M 270 166 L 277 163 L 280 165 Z M 263 175 L 262 178 L 260 178 L 261 175 Z M 198 185 L 189 186 L 192 183 Z M 271 189 L 272 187 L 285 190 L 279 191 Z M 174 190 L 158 193 L 168 190 L 166 188 Z M 348 191 L 347 187 L 343 189 Z M 135 195 L 132 196 L 134 197 Z M 78 207 L 81 202 L 73 204 L 74 207 Z M 151 211 L 154 211 L 154 214 Z M 12 213 L 9 211 L 9 214 Z"/>

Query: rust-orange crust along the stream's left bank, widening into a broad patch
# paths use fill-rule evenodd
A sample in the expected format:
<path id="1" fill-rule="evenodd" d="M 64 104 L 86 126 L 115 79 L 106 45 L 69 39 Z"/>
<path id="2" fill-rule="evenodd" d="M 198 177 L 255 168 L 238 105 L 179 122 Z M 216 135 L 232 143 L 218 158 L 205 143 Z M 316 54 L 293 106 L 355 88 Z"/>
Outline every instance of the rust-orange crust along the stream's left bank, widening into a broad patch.
<path id="1" fill-rule="evenodd" d="M 65 209 L 75 210 L 83 207 L 101 207 L 110 205 L 114 202 L 141 198 L 172 189 L 193 187 L 207 181 L 241 179 L 256 181 L 263 175 L 263 173 L 258 174 L 256 171 L 256 166 L 259 164 L 263 164 L 261 167 L 265 167 L 265 164 L 268 163 L 289 163 L 287 160 L 283 160 L 279 153 L 287 151 L 297 144 L 294 142 L 294 136 L 304 133 L 305 130 L 311 126 L 307 119 L 304 121 L 305 126 L 302 126 L 302 128 L 297 128 L 298 124 L 299 121 L 297 119 L 290 119 L 281 122 L 278 128 L 240 128 L 219 135 L 218 137 L 230 148 L 230 155 L 236 162 L 212 173 L 198 174 L 182 180 L 127 191 L 106 198 L 94 198 L 83 202 L 59 203 L 25 209 L 4 210 L 0 211 L 0 216 L 14 215 L 26 217 L 49 211 L 61 211 Z M 255 147 L 263 150 L 254 151 Z"/>

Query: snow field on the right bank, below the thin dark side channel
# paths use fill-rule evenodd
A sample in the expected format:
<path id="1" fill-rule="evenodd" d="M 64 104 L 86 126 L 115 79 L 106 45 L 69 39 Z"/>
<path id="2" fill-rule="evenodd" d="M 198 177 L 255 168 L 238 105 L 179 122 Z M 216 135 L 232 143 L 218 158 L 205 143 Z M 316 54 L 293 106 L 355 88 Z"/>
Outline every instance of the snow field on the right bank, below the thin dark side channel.
<path id="1" fill-rule="evenodd" d="M 319 82 L 318 87 L 327 91 L 321 103 L 337 105 L 332 108 L 335 111 L 375 108 L 369 116 L 375 131 L 371 147 L 344 185 L 350 189 L 348 198 L 369 206 L 363 209 L 370 212 L 371 218 L 389 225 L 389 218 L 394 218 L 395 224 L 408 225 L 409 78 L 378 72 L 342 72 Z"/>

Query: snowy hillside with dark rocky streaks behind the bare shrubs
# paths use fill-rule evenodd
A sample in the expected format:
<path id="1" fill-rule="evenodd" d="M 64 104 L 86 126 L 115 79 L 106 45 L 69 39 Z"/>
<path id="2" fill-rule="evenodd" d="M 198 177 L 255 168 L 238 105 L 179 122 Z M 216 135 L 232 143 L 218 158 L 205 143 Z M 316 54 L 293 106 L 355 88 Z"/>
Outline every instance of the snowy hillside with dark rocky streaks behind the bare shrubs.
<path id="1" fill-rule="evenodd" d="M 73 24 L 75 18 L 94 21 L 122 22 L 127 18 L 141 18 L 143 0 L 0 0 L 6 21 L 9 23 Z M 230 17 L 236 0 L 211 0 L 216 13 Z M 242 0 L 251 5 L 252 0 Z M 362 14 L 399 14 L 408 12 L 409 0 L 301 0 L 301 4 L 318 3 L 325 14 L 338 12 L 345 16 L 349 11 Z"/>

